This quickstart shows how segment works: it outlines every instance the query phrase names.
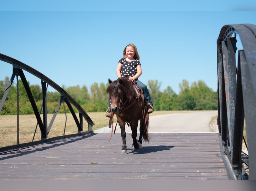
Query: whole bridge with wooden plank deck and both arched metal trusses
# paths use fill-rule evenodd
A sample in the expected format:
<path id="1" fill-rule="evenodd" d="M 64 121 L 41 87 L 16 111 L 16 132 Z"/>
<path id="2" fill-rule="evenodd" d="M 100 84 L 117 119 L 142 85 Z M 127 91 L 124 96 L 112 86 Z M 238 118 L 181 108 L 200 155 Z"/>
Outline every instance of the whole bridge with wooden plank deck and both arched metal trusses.
<path id="1" fill-rule="evenodd" d="M 238 51 L 236 63 L 238 35 L 244 50 Z M 65 90 L 35 69 L 0 54 L 0 61 L 13 66 L 11 80 L 0 102 L 0 112 L 15 77 L 18 81 L 19 76 L 41 131 L 41 141 L 0 148 L 0 180 L 244 180 L 243 164 L 249 166 L 248 179 L 256 180 L 255 37 L 256 26 L 251 24 L 225 25 L 220 31 L 217 40 L 218 133 L 151 133 L 149 144 L 144 143 L 139 150 L 129 149 L 127 155 L 120 155 L 118 134 L 109 143 L 109 134 L 93 133 L 94 122 Z M 23 70 L 41 79 L 42 119 Z M 48 85 L 61 96 L 47 126 Z M 78 133 L 48 139 L 47 134 L 64 103 L 74 117 Z M 73 107 L 79 111 L 79 117 Z M 17 118 L 18 108 L 17 104 Z M 84 122 L 88 123 L 86 131 Z M 243 136 L 244 128 L 247 140 Z M 249 154 L 242 151 L 243 142 Z"/>

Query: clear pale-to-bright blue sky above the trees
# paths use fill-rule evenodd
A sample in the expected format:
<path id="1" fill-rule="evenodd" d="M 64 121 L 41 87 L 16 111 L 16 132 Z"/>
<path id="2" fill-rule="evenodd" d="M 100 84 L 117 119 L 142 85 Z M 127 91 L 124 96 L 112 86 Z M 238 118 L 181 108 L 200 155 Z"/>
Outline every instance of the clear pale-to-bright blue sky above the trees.
<path id="1" fill-rule="evenodd" d="M 228 24 L 256 25 L 255 1 L 0 0 L 0 53 L 59 86 L 115 80 L 125 46 L 137 46 L 144 84 L 179 93 L 183 79 L 217 91 L 217 39 Z M 21 3 L 22 2 L 22 3 Z M 153 2 L 153 1 L 152 1 Z M 242 11 L 239 11 L 242 10 Z M 0 80 L 12 67 L 0 61 Z M 25 73 L 30 84 L 40 80 Z M 49 89 L 51 91 L 51 89 Z M 52 90 L 53 91 L 53 90 Z"/>

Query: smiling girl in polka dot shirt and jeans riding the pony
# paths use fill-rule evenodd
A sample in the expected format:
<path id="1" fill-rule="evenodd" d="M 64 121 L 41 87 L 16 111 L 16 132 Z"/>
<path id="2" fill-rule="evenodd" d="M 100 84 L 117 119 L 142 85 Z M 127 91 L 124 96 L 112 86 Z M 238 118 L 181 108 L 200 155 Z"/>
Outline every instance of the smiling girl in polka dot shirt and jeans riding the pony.
<path id="1" fill-rule="evenodd" d="M 138 78 L 142 74 L 142 70 L 140 65 L 140 56 L 134 44 L 128 44 L 125 47 L 123 51 L 123 58 L 119 60 L 116 68 L 117 78 L 125 78 L 125 74 L 128 74 L 130 81 L 133 82 L 135 80 L 137 86 L 139 86 L 143 90 L 144 96 L 148 101 L 148 113 L 152 113 L 154 111 L 154 108 L 147 86 L 138 80 Z M 110 117 L 110 107 L 108 108 L 107 112 L 108 113 L 106 114 L 106 116 Z"/>

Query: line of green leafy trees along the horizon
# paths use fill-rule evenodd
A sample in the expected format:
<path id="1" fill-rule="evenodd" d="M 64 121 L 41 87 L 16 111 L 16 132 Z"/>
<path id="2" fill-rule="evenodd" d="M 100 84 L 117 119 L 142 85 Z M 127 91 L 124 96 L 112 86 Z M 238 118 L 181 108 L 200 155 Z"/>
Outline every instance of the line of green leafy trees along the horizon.
<path id="1" fill-rule="evenodd" d="M 0 81 L 0 98 L 7 88 L 9 78 Z M 90 92 L 87 86 L 62 87 L 71 95 L 86 112 L 102 112 L 108 108 L 108 94 L 106 89 L 109 84 L 94 83 L 90 86 Z M 38 110 L 42 105 L 42 89 L 39 85 L 29 85 L 32 95 L 36 101 Z M 19 87 L 19 114 L 33 114 L 34 111 L 27 97 L 26 91 L 21 80 L 18 80 Z M 176 94 L 170 86 L 167 86 L 163 92 L 160 91 L 161 82 L 149 80 L 147 87 L 154 104 L 154 110 L 217 110 L 218 95 L 209 88 L 204 81 L 199 80 L 189 86 L 187 80 L 179 83 L 179 94 Z M 48 92 L 47 113 L 53 113 L 60 100 L 60 93 Z M 74 108 L 75 109 L 75 108 Z M 76 110 L 76 109 L 75 109 Z M 69 112 L 68 107 L 61 104 L 60 113 Z M 10 88 L 6 101 L 3 105 L 1 115 L 17 114 L 17 84 Z"/>

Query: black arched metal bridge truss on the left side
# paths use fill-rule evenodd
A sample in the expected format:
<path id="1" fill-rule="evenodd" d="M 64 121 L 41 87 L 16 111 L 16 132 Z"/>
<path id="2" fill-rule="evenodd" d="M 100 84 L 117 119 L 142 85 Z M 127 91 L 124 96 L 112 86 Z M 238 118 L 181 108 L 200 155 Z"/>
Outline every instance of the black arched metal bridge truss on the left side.
<path id="1" fill-rule="evenodd" d="M 0 148 L 0 152 L 1 151 L 4 152 L 4 151 L 12 150 L 12 149 L 17 149 L 17 148 L 21 148 L 21 147 L 26 147 L 26 146 L 31 146 L 31 145 L 36 145 L 36 144 L 41 144 L 42 142 L 45 142 L 45 141 L 58 140 L 58 139 L 61 139 L 61 138 L 67 138 L 67 137 L 72 137 L 72 136 L 77 136 L 77 135 L 80 135 L 80 134 L 93 132 L 92 127 L 95 124 L 92 121 L 92 119 L 89 117 L 89 115 L 80 106 L 80 104 L 77 103 L 77 101 L 75 99 L 73 99 L 65 90 L 63 90 L 61 87 L 59 87 L 56 83 L 54 83 L 52 80 L 50 80 L 49 78 L 47 78 L 46 76 L 44 76 L 43 74 L 38 72 L 37 70 L 35 70 L 35 69 L 31 68 L 30 66 L 28 66 L 28 65 L 26 65 L 26 64 L 24 64 L 24 63 L 22 63 L 18 60 L 15 60 L 11 57 L 0 54 L 0 60 L 3 61 L 3 62 L 9 63 L 13 66 L 12 67 L 13 71 L 12 71 L 11 79 L 9 81 L 7 89 L 5 90 L 5 93 L 4 93 L 4 95 L 1 99 L 1 102 L 0 102 L 0 113 L 1 113 L 1 110 L 3 108 L 4 102 L 7 98 L 8 92 L 9 92 L 9 90 L 12 86 L 12 83 L 15 79 L 15 76 L 16 76 L 16 79 L 17 79 L 17 130 L 19 129 L 19 122 L 18 122 L 18 119 L 19 119 L 18 76 L 19 76 L 23 85 L 24 85 L 24 88 L 25 88 L 26 93 L 28 95 L 28 98 L 30 100 L 31 106 L 33 108 L 35 117 L 37 119 L 37 125 L 39 126 L 40 131 L 41 131 L 41 141 L 34 141 L 34 142 L 32 141 L 31 143 L 19 144 L 19 136 L 17 136 L 17 145 L 2 147 L 2 148 Z M 38 109 L 37 109 L 34 97 L 31 93 L 29 84 L 26 80 L 26 77 L 25 77 L 23 71 L 29 72 L 30 74 L 34 75 L 35 77 L 37 77 L 41 80 L 42 98 L 43 98 L 42 99 L 42 101 L 43 101 L 42 102 L 42 107 L 41 107 L 42 110 L 43 110 L 42 118 L 40 116 L 41 111 L 39 112 Z M 58 103 L 58 105 L 55 109 L 55 112 L 54 112 L 54 114 L 51 118 L 51 121 L 50 121 L 49 125 L 47 126 L 47 97 L 46 97 L 46 91 L 47 91 L 48 85 L 50 85 L 57 92 L 60 93 L 60 99 L 59 99 L 59 103 Z M 65 135 L 65 132 L 64 132 L 63 136 L 47 139 L 47 135 L 48 135 L 48 133 L 51 129 L 51 126 L 54 122 L 54 119 L 55 119 L 57 113 L 58 113 L 58 110 L 60 108 L 61 103 L 63 103 L 63 105 L 64 105 L 64 103 L 66 103 L 68 108 L 70 109 L 70 111 L 72 113 L 72 116 L 75 120 L 75 123 L 77 125 L 77 128 L 78 128 L 78 134 Z M 79 119 L 78 119 L 72 105 L 79 111 Z M 64 108 L 65 108 L 65 105 L 64 105 Z M 85 132 L 82 132 L 83 131 L 83 117 L 88 122 L 88 131 L 85 131 Z M 37 128 L 37 125 L 36 125 L 36 128 Z M 66 129 L 66 124 L 65 124 L 65 129 Z"/>

